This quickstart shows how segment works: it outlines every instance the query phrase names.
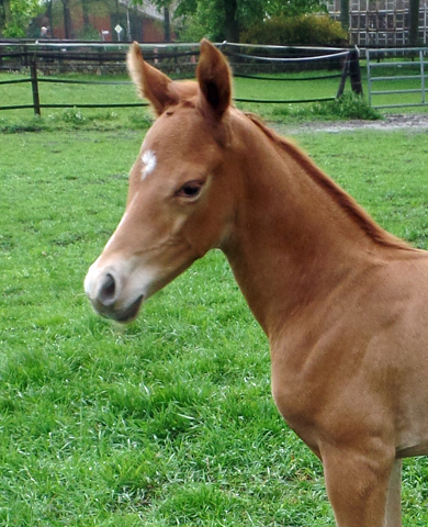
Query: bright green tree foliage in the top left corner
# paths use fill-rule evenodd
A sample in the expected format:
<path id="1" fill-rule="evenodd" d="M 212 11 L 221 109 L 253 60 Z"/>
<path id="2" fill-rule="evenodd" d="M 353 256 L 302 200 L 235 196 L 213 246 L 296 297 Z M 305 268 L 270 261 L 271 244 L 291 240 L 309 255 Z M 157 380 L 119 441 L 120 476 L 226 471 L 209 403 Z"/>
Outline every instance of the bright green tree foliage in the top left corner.
<path id="1" fill-rule="evenodd" d="M 30 21 L 43 7 L 38 0 L 0 0 L 0 34 L 7 38 L 21 38 Z"/>

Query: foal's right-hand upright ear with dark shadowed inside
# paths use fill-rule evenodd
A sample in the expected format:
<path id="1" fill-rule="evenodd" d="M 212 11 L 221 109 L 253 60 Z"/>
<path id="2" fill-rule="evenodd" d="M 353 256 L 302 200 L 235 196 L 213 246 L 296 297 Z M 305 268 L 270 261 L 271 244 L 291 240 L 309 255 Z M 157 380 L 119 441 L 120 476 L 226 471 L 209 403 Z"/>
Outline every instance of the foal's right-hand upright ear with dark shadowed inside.
<path id="1" fill-rule="evenodd" d="M 201 41 L 196 78 L 201 92 L 217 119 L 232 101 L 230 67 L 224 55 L 207 40 Z"/>

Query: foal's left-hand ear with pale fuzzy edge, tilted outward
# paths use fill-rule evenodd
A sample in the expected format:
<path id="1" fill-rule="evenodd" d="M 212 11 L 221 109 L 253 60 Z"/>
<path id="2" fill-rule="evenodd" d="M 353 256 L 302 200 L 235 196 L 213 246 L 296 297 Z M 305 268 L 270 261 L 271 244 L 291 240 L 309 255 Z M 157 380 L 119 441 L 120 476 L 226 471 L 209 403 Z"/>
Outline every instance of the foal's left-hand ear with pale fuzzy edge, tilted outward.
<path id="1" fill-rule="evenodd" d="M 171 89 L 172 80 L 144 60 L 137 42 L 134 42 L 127 52 L 126 65 L 139 94 L 150 101 L 158 115 L 164 113 L 167 106 L 177 104 L 177 97 Z"/>

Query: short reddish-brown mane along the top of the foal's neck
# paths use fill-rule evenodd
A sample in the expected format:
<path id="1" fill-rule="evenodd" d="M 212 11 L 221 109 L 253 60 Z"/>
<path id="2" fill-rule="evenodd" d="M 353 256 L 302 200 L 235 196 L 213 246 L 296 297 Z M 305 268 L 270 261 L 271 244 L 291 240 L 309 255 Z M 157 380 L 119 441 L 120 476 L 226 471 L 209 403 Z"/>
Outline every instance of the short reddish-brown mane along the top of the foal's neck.
<path id="1" fill-rule="evenodd" d="M 351 198 L 345 190 L 333 181 L 326 173 L 324 173 L 312 159 L 304 154 L 292 142 L 285 139 L 277 134 L 273 130 L 266 126 L 257 115 L 246 113 L 246 116 L 256 124 L 263 134 L 282 152 L 290 156 L 307 176 L 326 191 L 330 198 L 346 212 L 346 214 L 359 225 L 359 227 L 369 236 L 374 243 L 394 247 L 398 249 L 412 249 L 412 247 L 401 238 L 395 237 L 388 232 L 379 226 L 371 216 Z"/>

